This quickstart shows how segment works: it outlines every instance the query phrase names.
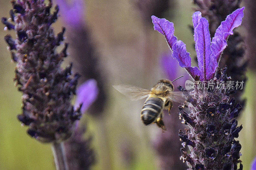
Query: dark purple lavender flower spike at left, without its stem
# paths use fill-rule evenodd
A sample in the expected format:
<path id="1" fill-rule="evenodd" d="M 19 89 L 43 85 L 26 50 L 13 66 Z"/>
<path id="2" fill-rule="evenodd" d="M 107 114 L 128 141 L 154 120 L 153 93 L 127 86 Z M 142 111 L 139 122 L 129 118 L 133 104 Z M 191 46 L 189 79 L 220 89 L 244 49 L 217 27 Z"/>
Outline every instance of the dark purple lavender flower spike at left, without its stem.
<path id="1" fill-rule="evenodd" d="M 22 92 L 22 111 L 18 119 L 29 128 L 31 137 L 41 142 L 60 143 L 72 134 L 72 126 L 81 117 L 71 99 L 76 93 L 80 75 L 72 75 L 71 67 L 61 68 L 66 49 L 55 49 L 63 41 L 65 28 L 54 34 L 52 23 L 58 18 L 59 7 L 52 13 L 52 1 L 12 0 L 10 12 L 15 24 L 16 39 L 5 37 L 12 53 L 16 84 Z M 5 25 L 10 23 L 5 22 Z"/>

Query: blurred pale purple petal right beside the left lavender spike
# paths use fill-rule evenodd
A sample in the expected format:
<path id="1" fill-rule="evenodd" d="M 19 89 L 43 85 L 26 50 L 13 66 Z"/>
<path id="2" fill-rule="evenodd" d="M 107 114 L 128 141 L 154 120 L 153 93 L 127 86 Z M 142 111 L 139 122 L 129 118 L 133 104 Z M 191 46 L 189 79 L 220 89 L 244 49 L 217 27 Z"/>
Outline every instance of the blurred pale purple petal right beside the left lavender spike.
<path id="1" fill-rule="evenodd" d="M 80 85 L 76 91 L 77 98 L 75 102 L 75 109 L 79 108 L 80 104 L 81 113 L 84 113 L 85 110 L 97 99 L 99 89 L 97 87 L 97 82 L 94 79 L 89 79 Z"/>

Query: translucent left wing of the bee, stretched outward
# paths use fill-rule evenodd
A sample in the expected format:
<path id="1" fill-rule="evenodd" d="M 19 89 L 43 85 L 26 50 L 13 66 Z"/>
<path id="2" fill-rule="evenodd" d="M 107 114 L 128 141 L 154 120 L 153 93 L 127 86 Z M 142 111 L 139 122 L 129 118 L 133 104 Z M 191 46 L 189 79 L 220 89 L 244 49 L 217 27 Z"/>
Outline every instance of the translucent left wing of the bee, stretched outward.
<path id="1" fill-rule="evenodd" d="M 131 100 L 140 100 L 148 97 L 150 90 L 142 89 L 133 85 L 113 85 L 113 87 L 120 93 L 129 97 Z"/>

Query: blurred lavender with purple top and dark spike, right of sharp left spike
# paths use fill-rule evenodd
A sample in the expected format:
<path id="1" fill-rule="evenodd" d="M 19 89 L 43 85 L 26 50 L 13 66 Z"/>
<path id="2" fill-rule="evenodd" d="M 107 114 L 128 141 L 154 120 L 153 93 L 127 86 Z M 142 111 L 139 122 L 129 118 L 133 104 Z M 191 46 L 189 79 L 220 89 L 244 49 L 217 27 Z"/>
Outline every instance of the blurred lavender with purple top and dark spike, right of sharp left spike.
<path id="1" fill-rule="evenodd" d="M 68 26 L 67 39 L 71 41 L 69 53 L 72 56 L 74 70 L 82 75 L 80 82 L 91 78 L 95 79 L 101 94 L 98 96 L 97 102 L 88 108 L 88 113 L 93 116 L 100 115 L 103 113 L 107 100 L 105 87 L 107 76 L 104 74 L 104 67 L 98 62 L 99 54 L 84 19 L 86 15 L 85 1 L 56 0 L 56 2 L 60 6 L 61 18 Z M 12 44 L 11 39 L 9 42 Z"/>

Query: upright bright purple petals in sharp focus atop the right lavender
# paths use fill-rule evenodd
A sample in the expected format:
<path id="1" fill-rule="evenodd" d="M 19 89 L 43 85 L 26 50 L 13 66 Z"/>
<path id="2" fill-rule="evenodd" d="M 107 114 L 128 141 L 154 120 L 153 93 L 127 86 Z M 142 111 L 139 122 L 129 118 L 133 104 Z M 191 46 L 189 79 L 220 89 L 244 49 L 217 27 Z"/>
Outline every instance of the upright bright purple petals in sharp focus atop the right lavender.
<path id="1" fill-rule="evenodd" d="M 220 55 L 227 46 L 228 35 L 233 34 L 233 29 L 241 25 L 244 16 L 244 7 L 237 9 L 228 15 L 220 27 L 216 30 L 212 39 L 209 32 L 209 22 L 201 16 L 201 12 L 197 11 L 193 14 L 194 39 L 196 42 L 196 54 L 198 66 L 191 67 L 191 57 L 186 50 L 186 45 L 182 41 L 177 41 L 174 36 L 173 23 L 166 19 L 160 19 L 152 16 L 154 29 L 165 36 L 165 39 L 172 50 L 172 57 L 175 58 L 181 67 L 184 67 L 192 78 L 200 76 L 201 81 L 207 81 L 214 77 L 218 67 Z"/>

